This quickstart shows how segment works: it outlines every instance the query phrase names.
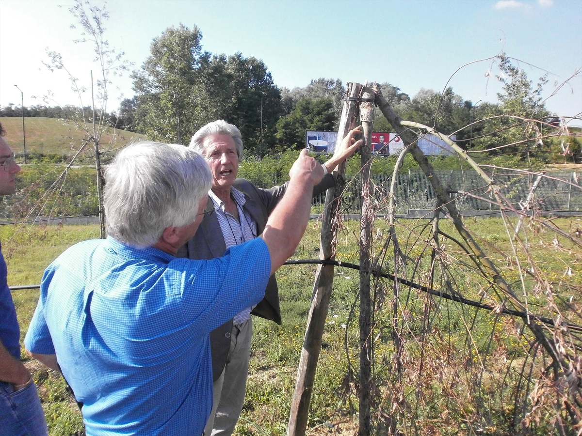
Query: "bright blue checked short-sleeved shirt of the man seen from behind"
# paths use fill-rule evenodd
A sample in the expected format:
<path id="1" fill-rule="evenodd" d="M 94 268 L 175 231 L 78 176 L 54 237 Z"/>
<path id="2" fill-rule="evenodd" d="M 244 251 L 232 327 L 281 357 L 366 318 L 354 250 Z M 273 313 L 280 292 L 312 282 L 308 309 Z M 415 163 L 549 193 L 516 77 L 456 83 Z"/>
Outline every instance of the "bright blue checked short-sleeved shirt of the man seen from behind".
<path id="1" fill-rule="evenodd" d="M 45 271 L 25 345 L 56 354 L 88 435 L 199 435 L 210 331 L 261 301 L 270 270 L 260 238 L 212 260 L 81 242 Z"/>

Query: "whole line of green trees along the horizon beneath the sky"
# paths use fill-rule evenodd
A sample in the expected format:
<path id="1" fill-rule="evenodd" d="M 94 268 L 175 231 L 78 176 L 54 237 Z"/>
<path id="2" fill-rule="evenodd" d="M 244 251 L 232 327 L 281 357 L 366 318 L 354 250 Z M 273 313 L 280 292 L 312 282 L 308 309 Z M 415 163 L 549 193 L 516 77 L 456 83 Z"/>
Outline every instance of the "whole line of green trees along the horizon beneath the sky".
<path id="1" fill-rule="evenodd" d="M 224 119 L 239 127 L 246 155 L 257 157 L 303 148 L 306 130 L 337 130 L 345 94 L 340 79 L 317 78 L 306 87 L 279 88 L 261 59 L 242 53 L 213 54 L 203 50 L 201 39 L 198 27 L 183 24 L 154 38 L 150 56 L 132 74 L 134 97 L 123 100 L 116 112 L 105 114 L 107 123 L 152 140 L 187 144 L 198 128 Z M 560 124 L 541 97 L 548 79 L 542 76 L 534 84 L 505 55 L 498 56 L 496 63 L 503 90 L 495 103 L 474 105 L 451 87 L 442 92 L 423 88 L 414 97 L 390 83 L 379 88 L 402 119 L 455 134 L 464 149 L 519 160 L 544 155 L 544 147 L 552 143 L 544 143 L 549 136 L 544 134 Z M 64 119 L 81 112 L 91 116 L 90 110 L 74 106 L 24 108 L 24 116 Z M 21 115 L 19 106 L 0 109 L 0 116 Z M 375 131 L 394 131 L 379 110 L 377 115 Z M 568 138 L 567 145 L 563 152 L 572 156 L 580 152 L 576 138 Z"/>

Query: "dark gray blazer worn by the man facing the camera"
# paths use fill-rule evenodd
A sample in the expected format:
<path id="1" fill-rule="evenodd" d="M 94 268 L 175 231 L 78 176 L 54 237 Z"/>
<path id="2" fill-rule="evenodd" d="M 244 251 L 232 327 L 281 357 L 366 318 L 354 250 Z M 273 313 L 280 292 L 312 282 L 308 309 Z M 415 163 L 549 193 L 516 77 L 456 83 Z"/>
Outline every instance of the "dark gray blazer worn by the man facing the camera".
<path id="1" fill-rule="evenodd" d="M 257 223 L 257 234 L 261 234 L 265 230 L 267 219 L 285 194 L 287 185 L 288 183 L 285 183 L 267 190 L 255 187 L 244 178 L 237 178 L 233 183 L 233 187 L 241 191 L 246 198 L 243 209 Z M 333 185 L 335 185 L 335 179 L 331 174 L 327 174 L 313 188 L 313 195 L 321 194 L 321 192 L 328 190 Z M 210 197 L 208 197 L 208 207 L 212 207 Z M 177 256 L 189 259 L 214 259 L 223 256 L 225 252 L 226 244 L 218 218 L 214 213 L 202 220 L 194 237 L 180 248 Z M 255 306 L 251 313 L 281 324 L 279 289 L 275 274 L 269 277 L 267 288 L 265 289 L 265 297 Z M 232 319 L 210 333 L 212 376 L 214 381 L 217 380 L 226 365 L 226 357 L 230 349 L 230 331 L 232 331 Z"/>

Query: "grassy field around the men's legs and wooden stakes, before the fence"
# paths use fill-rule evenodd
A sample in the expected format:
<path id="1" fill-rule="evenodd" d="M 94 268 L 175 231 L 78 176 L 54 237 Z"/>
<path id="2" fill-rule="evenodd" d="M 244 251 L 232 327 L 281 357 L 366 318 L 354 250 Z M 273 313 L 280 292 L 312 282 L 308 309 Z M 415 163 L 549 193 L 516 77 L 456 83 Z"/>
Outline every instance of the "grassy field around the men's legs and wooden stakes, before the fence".
<path id="1" fill-rule="evenodd" d="M 359 263 L 358 224 L 349 221 L 338 236 L 338 259 L 343 262 Z M 560 223 L 563 227 L 578 224 Z M 442 220 L 440 225 L 443 233 L 453 233 L 448 221 Z M 519 281 L 519 274 L 512 270 L 512 262 L 506 256 L 512 241 L 501 220 L 467 219 L 466 225 L 482 235 L 482 245 L 494 248 L 490 250 L 491 258 L 504 273 Z M 418 271 L 430 261 L 425 244 L 428 228 L 428 221 L 423 220 L 404 221 L 398 228 L 403 251 L 415 260 L 409 266 L 410 276 L 416 270 L 419 280 L 424 272 Z M 318 258 L 320 231 L 319 221 L 312 221 L 294 259 Z M 378 248 L 374 254 L 382 269 L 392 272 L 391 256 L 381 258 L 386 231 L 385 224 L 377 221 Z M 8 263 L 9 284 L 39 283 L 42 271 L 59 253 L 76 241 L 97 235 L 97 226 L 2 226 L 0 240 Z M 560 283 L 565 277 L 565 265 L 573 265 L 570 288 L 563 290 L 569 292 L 580 284 L 575 266 L 578 255 L 567 241 L 552 238 L 553 235 L 542 233 L 538 240 L 528 242 L 532 260 Z M 482 298 L 482 280 L 467 265 L 466 253 L 457 253 L 454 246 L 449 247 L 449 253 L 453 268 L 448 280 L 464 290 L 464 295 Z M 286 433 L 316 270 L 315 265 L 283 266 L 278 272 L 283 325 L 255 319 L 247 396 L 236 434 Z M 423 280 L 433 280 L 434 287 L 439 287 L 438 280 Z M 376 434 L 386 433 L 387 417 L 398 420 L 402 434 L 512 434 L 510 417 L 516 406 L 507 398 L 511 396 L 513 401 L 514 387 L 523 383 L 520 368 L 526 366 L 529 353 L 528 338 L 520 333 L 519 320 L 409 290 L 400 296 L 402 320 L 395 328 L 391 286 L 385 280 L 374 281 L 373 287 Z M 533 284 L 524 282 L 524 287 Z M 15 291 L 13 295 L 24 337 L 38 291 Z M 310 435 L 351 435 L 357 430 L 357 383 L 353 376 L 359 365 L 358 296 L 359 272 L 336 268 L 311 400 Z M 541 308 L 543 299 L 538 295 L 531 303 Z M 402 358 L 406 371 L 401 376 L 395 370 L 395 332 L 406 342 Z M 51 435 L 82 434 L 79 410 L 61 378 L 36 362 L 28 360 L 26 364 L 35 372 Z M 393 412 L 383 410 L 389 404 L 395 405 Z M 483 430 L 475 433 L 477 428 Z M 548 417 L 527 434 L 551 434 L 552 428 Z"/>

